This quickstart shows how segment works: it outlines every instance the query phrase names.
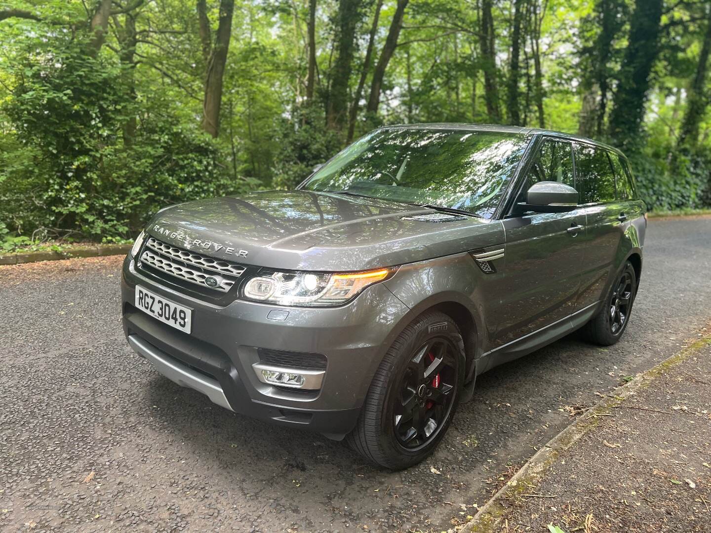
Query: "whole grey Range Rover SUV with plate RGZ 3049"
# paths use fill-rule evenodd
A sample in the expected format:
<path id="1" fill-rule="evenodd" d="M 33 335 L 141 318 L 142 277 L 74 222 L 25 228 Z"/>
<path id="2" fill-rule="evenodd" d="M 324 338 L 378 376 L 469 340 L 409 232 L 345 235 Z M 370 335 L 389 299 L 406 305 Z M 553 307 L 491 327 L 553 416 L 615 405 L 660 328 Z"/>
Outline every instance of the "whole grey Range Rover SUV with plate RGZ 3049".
<path id="1" fill-rule="evenodd" d="M 645 230 L 604 144 L 384 127 L 296 190 L 158 212 L 124 262 L 124 331 L 215 404 L 404 468 L 482 372 L 578 328 L 616 343 Z"/>

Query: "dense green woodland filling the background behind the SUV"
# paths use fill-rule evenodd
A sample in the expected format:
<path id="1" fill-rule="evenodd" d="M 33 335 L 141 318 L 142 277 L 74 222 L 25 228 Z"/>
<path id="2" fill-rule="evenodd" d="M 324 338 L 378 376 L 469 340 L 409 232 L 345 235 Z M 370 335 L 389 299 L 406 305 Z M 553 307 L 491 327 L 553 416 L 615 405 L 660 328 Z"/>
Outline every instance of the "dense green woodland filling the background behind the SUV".
<path id="1" fill-rule="evenodd" d="M 711 205 L 707 0 L 14 0 L 0 43 L 0 234 L 128 238 L 413 122 L 579 133 Z"/>

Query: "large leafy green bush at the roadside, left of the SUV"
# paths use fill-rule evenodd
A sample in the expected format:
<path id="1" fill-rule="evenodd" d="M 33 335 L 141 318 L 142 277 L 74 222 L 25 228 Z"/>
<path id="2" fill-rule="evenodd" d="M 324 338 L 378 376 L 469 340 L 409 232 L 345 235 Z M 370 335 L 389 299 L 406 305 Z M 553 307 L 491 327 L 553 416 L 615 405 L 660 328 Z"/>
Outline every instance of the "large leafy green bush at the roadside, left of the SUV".
<path id="1" fill-rule="evenodd" d="M 171 102 L 144 104 L 124 142 L 137 109 L 122 67 L 81 43 L 32 48 L 14 74 L 12 130 L 0 135 L 0 220 L 13 232 L 125 239 L 165 205 L 254 186 L 228 178 L 225 154 L 197 124 L 176 126 Z"/>

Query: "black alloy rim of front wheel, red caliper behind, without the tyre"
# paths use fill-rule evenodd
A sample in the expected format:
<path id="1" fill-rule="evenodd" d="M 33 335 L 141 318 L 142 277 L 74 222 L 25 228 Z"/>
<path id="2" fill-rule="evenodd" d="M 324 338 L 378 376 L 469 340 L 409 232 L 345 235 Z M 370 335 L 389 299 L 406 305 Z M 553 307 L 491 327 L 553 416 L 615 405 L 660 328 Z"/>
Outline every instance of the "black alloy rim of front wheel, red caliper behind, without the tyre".
<path id="1" fill-rule="evenodd" d="M 395 437 L 403 448 L 427 446 L 447 420 L 458 375 L 455 353 L 449 339 L 435 337 L 417 348 L 405 367 L 392 409 Z"/>

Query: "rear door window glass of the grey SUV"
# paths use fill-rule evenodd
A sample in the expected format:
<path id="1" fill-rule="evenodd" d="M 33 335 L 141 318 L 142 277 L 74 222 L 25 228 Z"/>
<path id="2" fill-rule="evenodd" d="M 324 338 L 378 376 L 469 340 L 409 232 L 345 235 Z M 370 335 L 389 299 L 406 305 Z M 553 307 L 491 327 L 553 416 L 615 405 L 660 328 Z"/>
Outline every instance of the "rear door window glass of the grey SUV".
<path id="1" fill-rule="evenodd" d="M 575 146 L 575 171 L 580 203 L 612 202 L 616 198 L 615 173 L 607 151 L 587 144 Z"/>

